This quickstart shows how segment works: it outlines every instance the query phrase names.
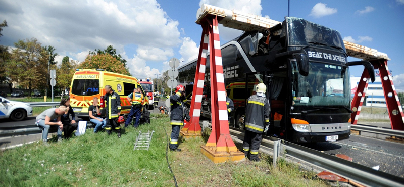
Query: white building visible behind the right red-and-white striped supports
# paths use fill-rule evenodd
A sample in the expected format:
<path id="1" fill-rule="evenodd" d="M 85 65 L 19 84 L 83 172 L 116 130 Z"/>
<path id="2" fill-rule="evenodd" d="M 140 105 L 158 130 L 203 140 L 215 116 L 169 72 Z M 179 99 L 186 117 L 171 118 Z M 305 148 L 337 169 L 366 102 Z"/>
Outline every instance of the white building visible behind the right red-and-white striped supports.
<path id="1" fill-rule="evenodd" d="M 360 80 L 361 77 L 350 77 L 350 88 L 352 99 L 354 98 L 355 91 L 358 88 L 358 83 Z M 376 76 L 375 82 L 371 82 L 369 80 L 368 89 L 365 94 L 365 100 L 363 102 L 363 106 L 387 107 L 380 76 Z"/>

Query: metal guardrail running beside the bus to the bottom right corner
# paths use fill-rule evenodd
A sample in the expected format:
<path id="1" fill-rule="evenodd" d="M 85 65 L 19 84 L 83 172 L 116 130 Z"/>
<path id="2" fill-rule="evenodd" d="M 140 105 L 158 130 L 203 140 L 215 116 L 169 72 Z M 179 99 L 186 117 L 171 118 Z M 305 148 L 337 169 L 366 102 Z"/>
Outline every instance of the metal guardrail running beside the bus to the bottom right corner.
<path id="1" fill-rule="evenodd" d="M 244 132 L 239 129 L 230 129 L 230 134 L 243 139 Z M 264 136 L 261 145 L 273 148 L 275 137 Z M 349 180 L 359 182 L 366 186 L 404 186 L 404 178 L 374 170 L 370 167 L 350 162 L 317 150 L 280 140 L 280 150 L 285 154 L 301 161 L 316 165 L 322 169 L 333 172 Z"/>

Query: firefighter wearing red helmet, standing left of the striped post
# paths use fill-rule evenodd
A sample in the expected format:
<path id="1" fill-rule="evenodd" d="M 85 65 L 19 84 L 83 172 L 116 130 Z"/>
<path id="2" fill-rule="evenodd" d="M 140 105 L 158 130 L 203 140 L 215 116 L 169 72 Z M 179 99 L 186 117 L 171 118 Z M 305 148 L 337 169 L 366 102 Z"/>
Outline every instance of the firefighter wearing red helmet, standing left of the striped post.
<path id="1" fill-rule="evenodd" d="M 171 151 L 181 151 L 181 149 L 178 148 L 178 136 L 180 134 L 180 128 L 182 125 L 184 125 L 184 119 L 186 121 L 191 119 L 184 101 L 186 101 L 185 88 L 180 84 L 175 88 L 175 94 L 170 97 Z"/>

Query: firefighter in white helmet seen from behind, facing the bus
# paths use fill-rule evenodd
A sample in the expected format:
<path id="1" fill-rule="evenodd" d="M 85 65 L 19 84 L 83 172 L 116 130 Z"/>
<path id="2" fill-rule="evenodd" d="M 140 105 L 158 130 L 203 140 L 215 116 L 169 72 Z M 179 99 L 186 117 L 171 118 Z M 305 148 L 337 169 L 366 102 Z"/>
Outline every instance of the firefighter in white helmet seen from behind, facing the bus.
<path id="1" fill-rule="evenodd" d="M 243 142 L 243 152 L 249 160 L 260 161 L 258 151 L 260 149 L 262 135 L 269 128 L 269 102 L 265 97 L 267 86 L 259 83 L 256 86 L 257 94 L 247 99 L 245 110 L 245 136 Z"/>

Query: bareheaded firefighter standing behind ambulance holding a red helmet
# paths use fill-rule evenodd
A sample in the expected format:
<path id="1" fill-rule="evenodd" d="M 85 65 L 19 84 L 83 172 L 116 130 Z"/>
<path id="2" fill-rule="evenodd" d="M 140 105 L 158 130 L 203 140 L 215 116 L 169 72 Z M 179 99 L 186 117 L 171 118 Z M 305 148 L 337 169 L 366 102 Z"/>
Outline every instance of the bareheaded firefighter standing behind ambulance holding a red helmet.
<path id="1" fill-rule="evenodd" d="M 108 135 L 111 135 L 111 128 L 114 126 L 115 130 L 118 132 L 118 137 L 121 137 L 121 125 L 116 121 L 119 115 L 121 115 L 121 98 L 110 85 L 105 86 L 105 92 L 104 98 L 107 108 L 107 124 L 105 130 Z"/>

